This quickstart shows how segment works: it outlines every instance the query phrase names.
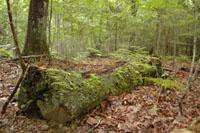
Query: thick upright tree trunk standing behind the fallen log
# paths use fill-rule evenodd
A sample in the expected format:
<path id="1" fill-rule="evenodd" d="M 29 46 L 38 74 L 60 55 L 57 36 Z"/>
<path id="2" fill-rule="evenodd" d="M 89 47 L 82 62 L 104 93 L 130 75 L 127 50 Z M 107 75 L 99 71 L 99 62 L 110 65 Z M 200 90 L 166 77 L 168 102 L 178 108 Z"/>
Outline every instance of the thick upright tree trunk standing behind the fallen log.
<path id="1" fill-rule="evenodd" d="M 48 0 L 31 0 L 24 55 L 49 55 L 47 45 Z"/>

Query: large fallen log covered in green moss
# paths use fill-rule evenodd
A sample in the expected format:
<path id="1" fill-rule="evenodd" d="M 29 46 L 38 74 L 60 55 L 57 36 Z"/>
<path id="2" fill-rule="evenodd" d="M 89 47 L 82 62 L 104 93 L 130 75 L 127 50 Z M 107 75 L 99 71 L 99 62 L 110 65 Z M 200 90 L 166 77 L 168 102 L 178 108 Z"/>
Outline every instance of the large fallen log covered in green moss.
<path id="1" fill-rule="evenodd" d="M 65 123 L 88 113 L 108 96 L 142 85 L 143 77 L 157 72 L 155 65 L 133 62 L 110 74 L 84 79 L 76 72 L 31 66 L 18 94 L 18 106 L 23 112 L 37 111 L 44 119 Z"/>

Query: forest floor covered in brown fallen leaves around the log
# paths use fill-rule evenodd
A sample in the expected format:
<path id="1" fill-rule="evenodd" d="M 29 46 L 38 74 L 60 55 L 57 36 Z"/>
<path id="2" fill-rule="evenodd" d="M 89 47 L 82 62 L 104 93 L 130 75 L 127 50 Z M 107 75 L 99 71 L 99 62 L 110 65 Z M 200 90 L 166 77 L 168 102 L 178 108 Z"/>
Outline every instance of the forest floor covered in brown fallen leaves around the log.
<path id="1" fill-rule="evenodd" d="M 93 63 L 92 65 L 90 63 Z M 104 62 L 104 65 L 101 65 Z M 89 64 L 88 64 L 89 63 Z M 111 60 L 84 61 L 82 64 L 70 62 L 39 63 L 40 66 L 54 66 L 69 70 L 85 68 L 84 74 L 96 72 L 107 73 L 123 62 Z M 188 72 L 179 69 L 183 64 L 177 64 L 176 80 L 185 84 Z M 184 64 L 189 68 L 189 64 Z M 173 70 L 172 64 L 164 68 Z M 82 69 L 81 69 L 82 70 Z M 0 109 L 12 92 L 21 73 L 18 64 L 7 62 L 0 64 Z M 172 72 L 168 72 L 172 75 Z M 67 125 L 47 122 L 18 114 L 17 103 L 13 101 L 5 115 L 0 116 L 0 132 L 3 133 L 168 133 L 175 128 L 187 128 L 194 118 L 200 116 L 200 75 L 193 83 L 192 91 L 183 100 L 183 115 L 180 115 L 179 100 L 183 91 L 163 89 L 158 86 L 139 86 L 130 93 L 109 97 L 90 114 L 68 123 Z M 56 114 L 55 114 L 56 115 Z"/>

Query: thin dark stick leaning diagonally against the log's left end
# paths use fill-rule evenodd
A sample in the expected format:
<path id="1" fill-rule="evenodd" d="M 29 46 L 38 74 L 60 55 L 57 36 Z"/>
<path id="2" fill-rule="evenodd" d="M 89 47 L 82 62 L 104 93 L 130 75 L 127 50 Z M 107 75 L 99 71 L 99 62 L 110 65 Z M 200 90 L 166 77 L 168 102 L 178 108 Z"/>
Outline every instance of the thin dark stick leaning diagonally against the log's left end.
<path id="1" fill-rule="evenodd" d="M 7 109 L 7 107 L 8 107 L 8 104 L 10 103 L 10 101 L 11 101 L 12 98 L 14 97 L 15 93 L 17 92 L 18 88 L 20 87 L 21 82 L 22 82 L 23 79 L 25 78 L 28 69 L 29 69 L 29 66 L 26 67 L 26 70 L 25 70 L 25 71 L 22 71 L 22 74 L 21 74 L 20 78 L 18 79 L 17 84 L 16 84 L 16 86 L 15 86 L 13 92 L 11 93 L 11 95 L 9 96 L 9 98 L 7 99 L 7 101 L 6 101 L 6 102 L 4 103 L 4 105 L 3 105 L 1 114 L 5 114 L 6 109 Z"/>

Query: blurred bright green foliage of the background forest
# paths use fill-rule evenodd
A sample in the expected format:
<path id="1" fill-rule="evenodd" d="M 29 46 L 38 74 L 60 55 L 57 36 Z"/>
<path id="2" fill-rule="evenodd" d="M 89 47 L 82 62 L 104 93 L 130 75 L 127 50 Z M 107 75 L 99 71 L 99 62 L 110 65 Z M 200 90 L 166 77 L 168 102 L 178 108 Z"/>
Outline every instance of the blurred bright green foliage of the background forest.
<path id="1" fill-rule="evenodd" d="M 26 36 L 29 2 L 12 2 L 19 44 L 24 44 Z M 172 55 L 174 42 L 177 54 L 188 54 L 186 48 L 193 43 L 193 11 L 192 0 L 54 0 L 49 46 L 60 57 L 82 58 L 88 48 L 102 51 L 92 51 L 91 56 L 118 49 L 145 54 L 143 47 L 157 49 L 160 30 L 160 55 Z M 13 44 L 5 1 L 0 1 L 0 12 L 0 29 L 5 32 L 0 44 Z"/>

